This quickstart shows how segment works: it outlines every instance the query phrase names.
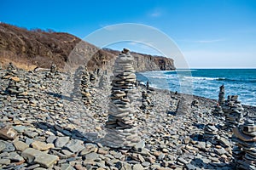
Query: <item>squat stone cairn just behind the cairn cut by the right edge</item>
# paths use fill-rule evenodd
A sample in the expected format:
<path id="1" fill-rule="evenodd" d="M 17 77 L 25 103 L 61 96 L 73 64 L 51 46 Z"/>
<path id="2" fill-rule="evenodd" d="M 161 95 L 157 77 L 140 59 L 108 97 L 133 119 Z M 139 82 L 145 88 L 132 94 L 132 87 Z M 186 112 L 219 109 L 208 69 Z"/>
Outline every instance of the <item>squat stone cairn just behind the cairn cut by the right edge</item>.
<path id="1" fill-rule="evenodd" d="M 222 109 L 224 111 L 225 123 L 228 130 L 237 127 L 241 122 L 244 111 L 241 102 L 238 101 L 238 96 L 229 95 L 228 99 L 225 100 L 224 105 L 222 105 Z"/>

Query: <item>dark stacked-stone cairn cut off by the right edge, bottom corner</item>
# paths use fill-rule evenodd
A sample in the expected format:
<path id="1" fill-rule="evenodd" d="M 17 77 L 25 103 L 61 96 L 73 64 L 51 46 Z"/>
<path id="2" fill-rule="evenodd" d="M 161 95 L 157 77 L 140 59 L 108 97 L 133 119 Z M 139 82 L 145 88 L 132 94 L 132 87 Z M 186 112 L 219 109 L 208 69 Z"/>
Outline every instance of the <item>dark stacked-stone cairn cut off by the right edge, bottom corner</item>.
<path id="1" fill-rule="evenodd" d="M 256 124 L 253 120 L 247 121 L 233 129 L 233 157 L 236 169 L 256 169 Z"/>

